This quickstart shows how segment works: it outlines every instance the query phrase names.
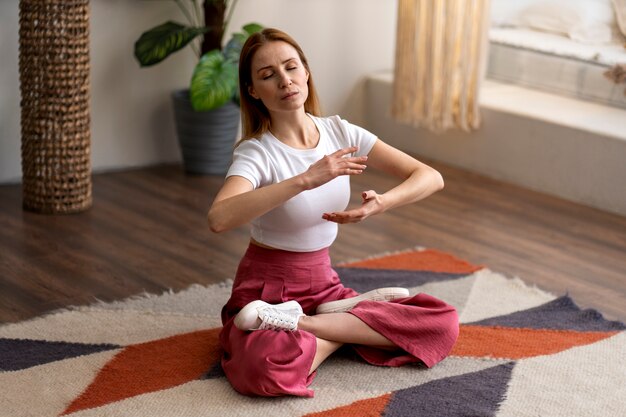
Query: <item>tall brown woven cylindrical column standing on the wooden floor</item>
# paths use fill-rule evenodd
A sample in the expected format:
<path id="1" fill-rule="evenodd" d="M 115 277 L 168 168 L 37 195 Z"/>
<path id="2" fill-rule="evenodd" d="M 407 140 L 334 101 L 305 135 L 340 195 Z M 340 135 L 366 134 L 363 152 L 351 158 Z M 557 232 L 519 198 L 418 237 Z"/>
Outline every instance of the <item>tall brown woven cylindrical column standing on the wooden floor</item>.
<path id="1" fill-rule="evenodd" d="M 89 0 L 20 0 L 24 209 L 91 206 Z"/>

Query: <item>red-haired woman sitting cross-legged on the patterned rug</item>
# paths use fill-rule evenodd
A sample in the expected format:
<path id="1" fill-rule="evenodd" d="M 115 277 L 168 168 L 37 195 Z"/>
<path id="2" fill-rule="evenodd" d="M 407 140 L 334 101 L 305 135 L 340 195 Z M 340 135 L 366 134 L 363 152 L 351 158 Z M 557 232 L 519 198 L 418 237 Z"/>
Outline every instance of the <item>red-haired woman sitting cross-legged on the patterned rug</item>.
<path id="1" fill-rule="evenodd" d="M 328 254 L 338 223 L 419 201 L 443 188 L 441 175 L 365 129 L 320 117 L 306 57 L 284 32 L 248 39 L 239 81 L 243 140 L 208 213 L 217 233 L 252 225 L 222 310 L 222 367 L 232 386 L 311 397 L 315 370 L 343 344 L 375 365 L 442 360 L 458 335 L 453 307 L 402 288 L 359 295 L 341 284 Z M 363 204 L 346 210 L 349 177 L 366 167 L 399 184 L 365 191 Z"/>

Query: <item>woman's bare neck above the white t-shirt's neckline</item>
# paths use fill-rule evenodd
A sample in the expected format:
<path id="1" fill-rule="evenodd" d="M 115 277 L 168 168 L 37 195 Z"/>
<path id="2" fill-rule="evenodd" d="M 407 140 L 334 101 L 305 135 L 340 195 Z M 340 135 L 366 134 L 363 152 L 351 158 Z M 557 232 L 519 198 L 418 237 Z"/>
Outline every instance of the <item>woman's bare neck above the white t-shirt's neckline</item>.
<path id="1" fill-rule="evenodd" d="M 273 116 L 270 131 L 278 140 L 297 149 L 314 148 L 319 141 L 317 127 L 304 110 Z"/>

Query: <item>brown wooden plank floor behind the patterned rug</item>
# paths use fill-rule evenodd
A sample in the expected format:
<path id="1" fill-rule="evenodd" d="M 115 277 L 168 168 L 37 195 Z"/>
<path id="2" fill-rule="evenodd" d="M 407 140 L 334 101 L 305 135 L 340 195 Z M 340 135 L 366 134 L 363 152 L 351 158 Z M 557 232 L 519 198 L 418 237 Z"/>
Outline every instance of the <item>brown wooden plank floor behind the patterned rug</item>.
<path id="1" fill-rule="evenodd" d="M 431 164 L 446 188 L 342 226 L 335 263 L 432 247 L 626 321 L 626 218 Z M 221 182 L 178 166 L 99 174 L 93 208 L 67 216 L 24 212 L 20 187 L 0 186 L 0 322 L 233 277 L 247 228 L 215 235 L 205 222 Z M 353 202 L 392 184 L 356 177 Z"/>

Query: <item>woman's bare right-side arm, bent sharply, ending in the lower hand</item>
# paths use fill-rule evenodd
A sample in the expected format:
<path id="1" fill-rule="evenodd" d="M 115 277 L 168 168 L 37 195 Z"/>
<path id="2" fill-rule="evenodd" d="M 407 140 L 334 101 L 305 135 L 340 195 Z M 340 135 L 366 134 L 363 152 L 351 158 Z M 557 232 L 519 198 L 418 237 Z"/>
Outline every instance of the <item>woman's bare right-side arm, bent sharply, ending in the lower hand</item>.
<path id="1" fill-rule="evenodd" d="M 438 171 L 406 153 L 377 140 L 369 153 L 368 165 L 402 180 L 384 194 L 369 190 L 362 193 L 363 204 L 355 209 L 324 213 L 324 219 L 337 223 L 356 223 L 393 207 L 422 200 L 443 188 Z"/>

